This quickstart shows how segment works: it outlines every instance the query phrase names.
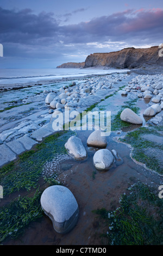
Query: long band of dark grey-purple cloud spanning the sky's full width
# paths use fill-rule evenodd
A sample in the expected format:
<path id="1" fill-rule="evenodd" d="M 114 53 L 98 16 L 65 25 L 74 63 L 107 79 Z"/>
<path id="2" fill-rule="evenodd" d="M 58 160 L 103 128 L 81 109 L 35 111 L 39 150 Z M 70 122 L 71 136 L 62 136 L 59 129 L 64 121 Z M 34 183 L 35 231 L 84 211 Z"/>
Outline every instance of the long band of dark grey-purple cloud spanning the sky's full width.
<path id="1" fill-rule="evenodd" d="M 74 10 L 72 13 L 84 11 Z M 71 14 L 65 14 L 71 15 Z M 143 9 L 134 11 L 126 10 L 109 16 L 92 19 L 89 22 L 81 22 L 76 25 L 60 26 L 58 20 L 54 19 L 53 13 L 42 12 L 38 15 L 32 13 L 31 9 L 21 11 L 4 10 L 0 8 L 0 31 L 2 42 L 21 42 L 22 44 L 33 44 L 35 41 L 43 42 L 51 38 L 55 42 L 89 42 L 102 41 L 110 38 L 116 40 L 130 38 L 142 32 L 152 38 L 153 35 L 161 37 L 160 29 L 163 23 L 163 10 L 154 9 L 145 11 Z"/>

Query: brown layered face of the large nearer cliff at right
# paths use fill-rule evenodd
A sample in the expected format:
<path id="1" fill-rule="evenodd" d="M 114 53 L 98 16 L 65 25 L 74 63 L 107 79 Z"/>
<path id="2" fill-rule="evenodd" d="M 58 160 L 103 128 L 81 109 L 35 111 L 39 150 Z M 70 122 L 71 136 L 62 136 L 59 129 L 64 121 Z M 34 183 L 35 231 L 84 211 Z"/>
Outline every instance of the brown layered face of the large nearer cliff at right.
<path id="1" fill-rule="evenodd" d="M 87 56 L 84 68 L 91 66 L 108 66 L 112 68 L 139 68 L 142 64 L 163 65 L 163 57 L 159 57 L 160 48 L 124 48 L 109 53 L 93 53 Z"/>

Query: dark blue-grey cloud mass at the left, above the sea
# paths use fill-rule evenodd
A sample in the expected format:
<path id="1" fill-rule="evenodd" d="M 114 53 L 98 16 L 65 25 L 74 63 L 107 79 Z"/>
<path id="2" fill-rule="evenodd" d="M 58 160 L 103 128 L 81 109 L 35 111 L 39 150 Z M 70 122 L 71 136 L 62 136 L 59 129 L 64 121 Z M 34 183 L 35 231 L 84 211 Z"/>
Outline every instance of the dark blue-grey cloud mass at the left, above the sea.
<path id="1" fill-rule="evenodd" d="M 21 11 L 0 8 L 0 35 L 2 42 L 28 42 L 54 37 L 58 33 L 58 22 L 53 13 L 42 12 L 39 15 L 30 9 Z"/>

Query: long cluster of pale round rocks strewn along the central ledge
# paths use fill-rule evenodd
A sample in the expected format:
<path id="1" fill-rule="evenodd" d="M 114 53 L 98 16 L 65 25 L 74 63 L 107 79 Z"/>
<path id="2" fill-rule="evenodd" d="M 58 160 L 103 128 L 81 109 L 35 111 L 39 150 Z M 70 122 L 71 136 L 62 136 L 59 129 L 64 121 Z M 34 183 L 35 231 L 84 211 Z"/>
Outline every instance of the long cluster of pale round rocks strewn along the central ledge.
<path id="1" fill-rule="evenodd" d="M 68 107 L 70 109 L 86 107 L 85 102 L 80 102 L 80 99 L 94 95 L 103 89 L 111 89 L 115 83 L 125 79 L 126 76 L 127 74 L 112 74 L 109 77 L 92 77 L 80 84 L 72 82 L 70 87 L 62 86 L 59 92 L 55 89 L 51 92 L 45 90 L 43 93 L 48 93 L 45 102 L 51 107 L 49 113 L 58 114 L 64 112 L 64 109 Z"/>

